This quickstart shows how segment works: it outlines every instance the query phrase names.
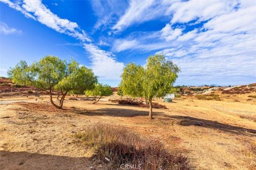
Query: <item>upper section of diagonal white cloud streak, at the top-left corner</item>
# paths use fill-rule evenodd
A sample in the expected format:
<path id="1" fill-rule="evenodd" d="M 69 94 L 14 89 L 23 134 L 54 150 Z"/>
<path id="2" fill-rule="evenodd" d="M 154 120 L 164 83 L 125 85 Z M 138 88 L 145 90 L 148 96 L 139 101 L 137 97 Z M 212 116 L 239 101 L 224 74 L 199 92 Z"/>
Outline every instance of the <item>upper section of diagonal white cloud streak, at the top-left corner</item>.
<path id="1" fill-rule="evenodd" d="M 91 42 L 91 38 L 85 31 L 80 29 L 76 22 L 67 19 L 61 19 L 58 15 L 52 13 L 40 0 L 23 0 L 23 2 L 12 3 L 9 0 L 0 0 L 8 4 L 17 11 L 22 12 L 28 18 L 32 18 L 45 24 L 47 27 L 60 33 L 65 33 L 76 39 Z"/>

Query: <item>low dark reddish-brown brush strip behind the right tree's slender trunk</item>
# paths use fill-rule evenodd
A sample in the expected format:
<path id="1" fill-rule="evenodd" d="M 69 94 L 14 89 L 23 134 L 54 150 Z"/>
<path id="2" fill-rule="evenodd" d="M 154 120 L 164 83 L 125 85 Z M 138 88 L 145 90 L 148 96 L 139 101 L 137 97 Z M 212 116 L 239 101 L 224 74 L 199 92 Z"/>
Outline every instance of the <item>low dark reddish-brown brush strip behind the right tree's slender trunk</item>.
<path id="1" fill-rule="evenodd" d="M 139 106 L 149 108 L 149 104 L 142 103 L 142 101 L 134 101 L 131 99 L 121 99 L 121 100 L 110 100 L 112 103 L 118 103 L 119 105 L 132 105 L 132 106 Z M 152 102 L 152 108 L 159 108 L 159 109 L 167 109 L 165 105 L 161 105 L 158 103 Z"/>

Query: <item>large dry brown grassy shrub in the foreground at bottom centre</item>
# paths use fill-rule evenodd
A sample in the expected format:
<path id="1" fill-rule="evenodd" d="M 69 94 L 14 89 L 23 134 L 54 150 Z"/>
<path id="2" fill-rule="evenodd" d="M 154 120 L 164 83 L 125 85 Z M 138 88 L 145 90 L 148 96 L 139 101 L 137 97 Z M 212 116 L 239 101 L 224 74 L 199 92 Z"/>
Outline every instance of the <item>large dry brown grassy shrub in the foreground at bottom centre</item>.
<path id="1" fill-rule="evenodd" d="M 141 139 L 119 126 L 94 124 L 74 137 L 73 142 L 91 148 L 106 169 L 119 169 L 122 164 L 144 170 L 191 169 L 186 156 L 171 154 L 158 140 Z"/>

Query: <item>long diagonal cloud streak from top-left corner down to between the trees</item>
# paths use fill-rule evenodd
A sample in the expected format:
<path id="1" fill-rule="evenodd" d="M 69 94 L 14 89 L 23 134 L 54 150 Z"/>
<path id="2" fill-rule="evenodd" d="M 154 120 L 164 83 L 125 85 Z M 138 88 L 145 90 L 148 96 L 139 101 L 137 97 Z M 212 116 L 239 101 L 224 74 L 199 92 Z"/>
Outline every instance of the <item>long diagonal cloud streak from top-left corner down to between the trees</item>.
<path id="1" fill-rule="evenodd" d="M 42 4 L 39 0 L 23 0 L 20 3 L 12 3 L 7 0 L 0 0 L 8 4 L 10 7 L 21 11 L 29 18 L 33 18 L 47 27 L 54 29 L 60 33 L 65 33 L 71 37 L 79 39 L 81 41 L 92 42 L 92 39 L 86 35 L 85 31 L 79 28 L 76 22 L 69 21 L 67 19 L 61 19 L 58 15 L 52 13 L 49 8 Z M 30 17 L 31 16 L 31 17 Z M 100 24 L 99 23 L 99 27 Z M 1 26 L 2 27 L 2 26 Z M 14 31 L 14 30 L 12 30 Z M 123 71 L 124 64 L 117 62 L 115 55 L 107 52 L 106 50 L 101 50 L 97 45 L 90 43 L 82 44 L 63 44 L 63 45 L 78 45 L 83 46 L 83 48 L 88 52 L 91 64 L 90 67 L 101 80 L 119 80 L 120 75 Z M 99 45 L 108 45 L 103 41 L 99 42 Z M 71 52 L 70 52 L 71 53 Z M 67 54 L 70 56 L 70 54 Z M 75 56 L 76 54 L 73 54 Z"/>

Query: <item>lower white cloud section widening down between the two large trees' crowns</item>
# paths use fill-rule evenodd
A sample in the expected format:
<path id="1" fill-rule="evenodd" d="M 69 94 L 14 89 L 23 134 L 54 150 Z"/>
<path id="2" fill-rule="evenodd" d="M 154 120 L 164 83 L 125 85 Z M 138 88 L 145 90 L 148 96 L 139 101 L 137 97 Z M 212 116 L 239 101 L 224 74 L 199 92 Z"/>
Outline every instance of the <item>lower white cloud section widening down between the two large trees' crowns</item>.
<path id="1" fill-rule="evenodd" d="M 117 62 L 114 54 L 99 49 L 93 44 L 84 44 L 84 49 L 90 54 L 91 69 L 101 80 L 120 80 L 124 63 Z"/>

